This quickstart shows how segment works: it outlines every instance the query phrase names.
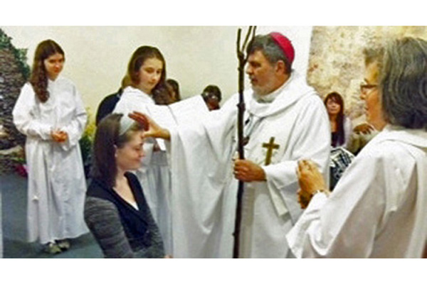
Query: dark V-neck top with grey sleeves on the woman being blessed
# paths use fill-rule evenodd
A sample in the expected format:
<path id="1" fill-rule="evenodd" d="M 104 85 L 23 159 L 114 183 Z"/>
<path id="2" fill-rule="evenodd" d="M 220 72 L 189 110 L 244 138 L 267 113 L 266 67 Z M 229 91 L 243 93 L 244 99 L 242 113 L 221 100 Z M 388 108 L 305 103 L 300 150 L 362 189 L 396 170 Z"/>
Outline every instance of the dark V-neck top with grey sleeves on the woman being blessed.
<path id="1" fill-rule="evenodd" d="M 164 247 L 137 177 L 125 173 L 138 209 L 100 179 L 90 182 L 85 222 L 106 258 L 163 258 Z"/>

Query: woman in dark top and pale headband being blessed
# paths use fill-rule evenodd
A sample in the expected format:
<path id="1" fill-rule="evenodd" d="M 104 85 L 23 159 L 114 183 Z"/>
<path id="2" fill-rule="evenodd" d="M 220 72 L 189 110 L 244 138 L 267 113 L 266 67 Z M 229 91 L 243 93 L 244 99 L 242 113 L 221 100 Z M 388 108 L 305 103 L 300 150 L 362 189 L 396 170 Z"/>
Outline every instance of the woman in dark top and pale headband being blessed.
<path id="1" fill-rule="evenodd" d="M 163 258 L 164 248 L 137 177 L 144 155 L 141 124 L 110 114 L 97 126 L 85 222 L 106 258 Z"/>

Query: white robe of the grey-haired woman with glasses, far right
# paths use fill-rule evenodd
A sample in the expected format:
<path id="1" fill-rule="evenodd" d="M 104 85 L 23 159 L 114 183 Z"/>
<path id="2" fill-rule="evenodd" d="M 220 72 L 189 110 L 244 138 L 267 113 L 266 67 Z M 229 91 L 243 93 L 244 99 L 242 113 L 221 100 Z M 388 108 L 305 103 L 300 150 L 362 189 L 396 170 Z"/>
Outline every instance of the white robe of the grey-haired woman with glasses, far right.
<path id="1" fill-rule="evenodd" d="M 386 126 L 287 236 L 297 257 L 420 258 L 427 239 L 427 133 Z"/>

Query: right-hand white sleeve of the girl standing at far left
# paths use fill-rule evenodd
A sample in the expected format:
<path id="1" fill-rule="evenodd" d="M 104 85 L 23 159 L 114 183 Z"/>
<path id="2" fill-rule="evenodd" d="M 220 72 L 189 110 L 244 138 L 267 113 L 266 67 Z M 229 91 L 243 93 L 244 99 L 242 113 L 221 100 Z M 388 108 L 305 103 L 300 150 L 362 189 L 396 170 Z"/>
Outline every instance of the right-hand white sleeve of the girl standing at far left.
<path id="1" fill-rule="evenodd" d="M 65 151 L 77 145 L 83 135 L 83 131 L 85 131 L 86 122 L 88 121 L 88 114 L 86 114 L 83 101 L 75 86 L 73 86 L 73 97 L 75 103 L 74 117 L 67 126 L 60 129 L 68 133 L 68 140 L 60 144 Z"/>

